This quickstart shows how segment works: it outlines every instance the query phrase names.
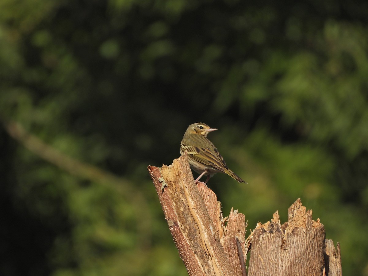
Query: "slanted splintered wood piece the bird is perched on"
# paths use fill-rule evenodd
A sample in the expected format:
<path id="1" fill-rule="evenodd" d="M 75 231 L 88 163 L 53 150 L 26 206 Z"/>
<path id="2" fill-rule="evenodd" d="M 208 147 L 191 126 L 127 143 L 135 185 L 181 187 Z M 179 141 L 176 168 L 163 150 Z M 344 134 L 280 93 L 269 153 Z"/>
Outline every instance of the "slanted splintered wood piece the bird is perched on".
<path id="1" fill-rule="evenodd" d="M 194 182 L 185 155 L 148 171 L 189 275 L 241 276 L 235 237 L 244 250 L 244 215 L 232 211 L 226 224 L 215 193 Z"/>

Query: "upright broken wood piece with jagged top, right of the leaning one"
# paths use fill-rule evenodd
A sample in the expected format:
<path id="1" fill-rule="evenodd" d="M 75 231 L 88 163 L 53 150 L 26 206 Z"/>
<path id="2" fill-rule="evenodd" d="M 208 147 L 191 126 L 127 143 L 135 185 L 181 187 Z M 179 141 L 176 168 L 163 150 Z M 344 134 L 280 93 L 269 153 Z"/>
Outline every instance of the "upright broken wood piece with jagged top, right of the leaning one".
<path id="1" fill-rule="evenodd" d="M 276 212 L 254 231 L 248 275 L 322 275 L 324 243 L 323 224 L 312 220 L 312 211 L 305 212 L 298 199 L 283 226 Z"/>

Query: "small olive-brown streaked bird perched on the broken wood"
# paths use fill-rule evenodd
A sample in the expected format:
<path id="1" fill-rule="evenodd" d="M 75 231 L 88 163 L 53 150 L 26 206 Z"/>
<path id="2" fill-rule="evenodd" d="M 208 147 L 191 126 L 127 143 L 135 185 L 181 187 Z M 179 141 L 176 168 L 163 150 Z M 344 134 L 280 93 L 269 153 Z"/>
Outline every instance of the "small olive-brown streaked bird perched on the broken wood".
<path id="1" fill-rule="evenodd" d="M 208 180 L 216 173 L 226 173 L 238 182 L 246 183 L 226 166 L 215 145 L 206 138 L 210 132 L 215 130 L 217 128 L 210 128 L 205 123 L 194 123 L 187 128 L 181 140 L 180 155 L 187 152 L 190 167 L 200 174 L 195 183 L 198 183 L 199 178 L 206 175 L 207 179 L 204 184 L 207 184 Z"/>

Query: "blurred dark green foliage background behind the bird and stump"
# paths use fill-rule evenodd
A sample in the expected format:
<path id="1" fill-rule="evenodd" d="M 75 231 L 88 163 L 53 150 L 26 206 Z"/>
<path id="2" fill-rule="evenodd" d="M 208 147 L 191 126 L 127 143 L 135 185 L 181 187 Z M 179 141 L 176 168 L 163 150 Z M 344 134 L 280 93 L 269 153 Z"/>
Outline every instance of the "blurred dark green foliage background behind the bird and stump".
<path id="1" fill-rule="evenodd" d="M 2 0 L 1 121 L 118 178 L 2 128 L 0 274 L 187 275 L 146 167 L 203 121 L 249 183 L 210 180 L 225 216 L 301 198 L 367 276 L 367 33 L 366 1 Z"/>

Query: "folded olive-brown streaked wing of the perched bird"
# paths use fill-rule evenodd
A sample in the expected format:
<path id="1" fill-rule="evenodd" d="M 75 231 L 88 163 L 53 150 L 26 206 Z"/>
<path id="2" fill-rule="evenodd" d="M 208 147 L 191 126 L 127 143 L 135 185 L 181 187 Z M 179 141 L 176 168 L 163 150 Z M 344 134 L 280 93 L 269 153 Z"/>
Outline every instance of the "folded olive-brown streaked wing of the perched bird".
<path id="1" fill-rule="evenodd" d="M 188 155 L 190 155 L 191 158 L 198 162 L 201 162 L 202 164 L 215 167 L 220 171 L 228 169 L 224 159 L 215 147 L 213 147 L 213 149 L 210 149 L 201 148 L 198 146 L 187 146 L 182 144 L 181 148 L 183 149 L 183 151 L 187 151 Z"/>

